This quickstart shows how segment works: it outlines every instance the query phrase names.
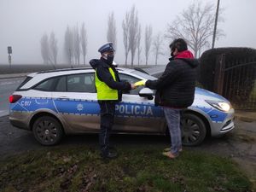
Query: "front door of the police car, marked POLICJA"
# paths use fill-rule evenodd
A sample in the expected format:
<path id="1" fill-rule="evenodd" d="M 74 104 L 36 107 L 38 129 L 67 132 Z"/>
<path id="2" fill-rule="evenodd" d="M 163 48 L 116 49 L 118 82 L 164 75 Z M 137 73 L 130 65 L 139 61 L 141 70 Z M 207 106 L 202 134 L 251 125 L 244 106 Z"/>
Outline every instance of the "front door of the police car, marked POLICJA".
<path id="1" fill-rule="evenodd" d="M 135 83 L 141 79 L 131 74 L 119 73 L 121 80 Z M 113 130 L 125 132 L 163 132 L 165 129 L 164 114 L 160 107 L 154 106 L 154 99 L 139 96 L 139 86 L 135 90 L 123 93 L 122 102 L 116 105 L 116 117 Z"/>

